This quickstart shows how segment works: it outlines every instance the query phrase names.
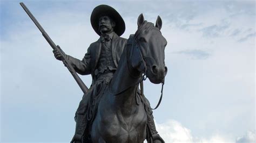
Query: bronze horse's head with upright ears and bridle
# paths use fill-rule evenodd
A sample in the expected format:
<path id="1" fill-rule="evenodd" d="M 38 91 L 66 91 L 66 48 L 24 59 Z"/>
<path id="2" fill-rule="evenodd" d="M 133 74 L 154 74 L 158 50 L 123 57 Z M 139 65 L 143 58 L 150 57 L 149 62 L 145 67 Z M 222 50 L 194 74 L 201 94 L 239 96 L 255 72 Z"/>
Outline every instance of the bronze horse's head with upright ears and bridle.
<path id="1" fill-rule="evenodd" d="M 158 16 L 156 26 L 144 20 L 143 14 L 138 17 L 138 30 L 134 34 L 134 45 L 131 54 L 132 67 L 146 74 L 152 83 L 163 83 L 167 73 L 164 49 L 166 39 L 160 32 L 161 18 Z"/>

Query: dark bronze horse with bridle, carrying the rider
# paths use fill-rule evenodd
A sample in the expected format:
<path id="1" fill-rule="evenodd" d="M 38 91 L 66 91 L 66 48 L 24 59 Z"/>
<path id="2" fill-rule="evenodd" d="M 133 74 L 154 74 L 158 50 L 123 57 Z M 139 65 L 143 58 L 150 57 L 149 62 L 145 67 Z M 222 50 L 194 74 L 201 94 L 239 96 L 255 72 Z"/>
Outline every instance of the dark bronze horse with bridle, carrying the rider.
<path id="1" fill-rule="evenodd" d="M 166 39 L 160 32 L 162 21 L 156 25 L 138 17 L 138 30 L 130 35 L 118 68 L 104 90 L 91 126 L 92 142 L 143 142 L 146 138 L 147 115 L 139 82 L 145 74 L 154 84 L 164 82 Z"/>

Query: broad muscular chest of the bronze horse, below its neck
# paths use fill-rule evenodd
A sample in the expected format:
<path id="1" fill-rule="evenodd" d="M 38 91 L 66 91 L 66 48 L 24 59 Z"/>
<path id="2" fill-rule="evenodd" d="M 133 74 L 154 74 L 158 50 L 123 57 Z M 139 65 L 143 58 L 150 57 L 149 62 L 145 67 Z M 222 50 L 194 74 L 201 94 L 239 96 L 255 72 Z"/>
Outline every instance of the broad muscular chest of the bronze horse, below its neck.
<path id="1" fill-rule="evenodd" d="M 143 105 L 138 105 L 130 116 L 109 107 L 98 111 L 95 129 L 106 142 L 141 142 L 145 139 L 146 121 Z"/>

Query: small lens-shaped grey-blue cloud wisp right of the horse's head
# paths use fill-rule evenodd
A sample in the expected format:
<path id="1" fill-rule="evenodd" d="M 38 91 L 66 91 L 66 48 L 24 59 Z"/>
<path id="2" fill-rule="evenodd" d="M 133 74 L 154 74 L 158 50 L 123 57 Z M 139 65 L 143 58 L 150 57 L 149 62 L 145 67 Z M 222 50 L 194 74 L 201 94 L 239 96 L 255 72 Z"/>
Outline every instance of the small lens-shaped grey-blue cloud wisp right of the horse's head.
<path id="1" fill-rule="evenodd" d="M 211 55 L 210 53 L 206 51 L 202 51 L 200 49 L 185 50 L 185 51 L 179 51 L 176 53 L 190 56 L 191 59 L 196 59 L 196 60 L 204 60 Z"/>

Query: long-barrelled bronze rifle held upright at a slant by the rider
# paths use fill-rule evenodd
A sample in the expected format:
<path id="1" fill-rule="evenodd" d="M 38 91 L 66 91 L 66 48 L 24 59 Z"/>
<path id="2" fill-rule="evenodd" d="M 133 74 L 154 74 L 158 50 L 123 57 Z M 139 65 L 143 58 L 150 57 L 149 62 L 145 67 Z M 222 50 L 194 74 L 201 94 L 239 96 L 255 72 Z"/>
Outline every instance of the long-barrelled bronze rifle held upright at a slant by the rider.
<path id="1" fill-rule="evenodd" d="M 63 54 L 62 50 L 58 46 L 55 45 L 55 43 L 51 40 L 49 35 L 44 31 L 43 27 L 37 22 L 36 18 L 32 15 L 32 13 L 29 11 L 29 9 L 26 8 L 26 5 L 24 3 L 19 3 L 19 4 L 21 4 L 22 8 L 29 15 L 29 17 L 32 19 L 33 23 L 36 24 L 37 28 L 41 31 L 41 33 L 43 34 L 43 37 L 46 39 L 46 41 L 48 41 L 50 46 L 54 50 L 57 50 L 59 53 L 62 54 L 62 62 L 64 63 L 66 68 L 68 68 L 68 70 L 70 71 L 71 75 L 75 78 L 75 80 L 76 80 L 77 84 L 79 85 L 80 89 L 82 89 L 84 94 L 86 94 L 86 92 L 88 91 L 88 88 L 86 87 L 84 82 L 81 80 L 81 78 L 77 75 L 76 70 L 72 67 L 70 62 L 66 59 L 66 57 Z"/>

